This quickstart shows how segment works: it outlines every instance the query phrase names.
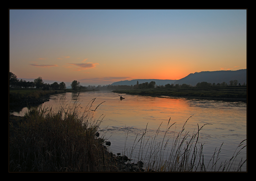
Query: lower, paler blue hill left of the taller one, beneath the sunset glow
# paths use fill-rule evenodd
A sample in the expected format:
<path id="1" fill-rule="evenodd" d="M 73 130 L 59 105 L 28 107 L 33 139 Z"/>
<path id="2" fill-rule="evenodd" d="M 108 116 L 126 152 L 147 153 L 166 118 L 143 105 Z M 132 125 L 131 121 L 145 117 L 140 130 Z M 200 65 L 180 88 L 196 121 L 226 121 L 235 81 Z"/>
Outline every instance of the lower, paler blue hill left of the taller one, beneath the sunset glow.
<path id="1" fill-rule="evenodd" d="M 126 81 L 119 81 L 114 82 L 111 85 L 135 85 L 137 84 L 137 81 L 139 81 L 139 84 L 145 83 L 145 82 L 151 82 L 155 81 L 156 85 L 165 85 L 165 84 L 173 84 L 176 80 L 161 80 L 161 79 L 134 79 L 134 80 L 126 80 Z"/>

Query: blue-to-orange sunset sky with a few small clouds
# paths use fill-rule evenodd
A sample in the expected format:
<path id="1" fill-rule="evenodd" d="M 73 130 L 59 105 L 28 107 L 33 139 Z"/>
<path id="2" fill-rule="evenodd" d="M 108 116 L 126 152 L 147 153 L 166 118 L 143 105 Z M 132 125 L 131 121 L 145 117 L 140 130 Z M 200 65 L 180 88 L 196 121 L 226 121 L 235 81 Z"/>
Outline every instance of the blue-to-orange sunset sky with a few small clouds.
<path id="1" fill-rule="evenodd" d="M 9 9 L 18 79 L 97 86 L 246 68 L 246 9 Z"/>

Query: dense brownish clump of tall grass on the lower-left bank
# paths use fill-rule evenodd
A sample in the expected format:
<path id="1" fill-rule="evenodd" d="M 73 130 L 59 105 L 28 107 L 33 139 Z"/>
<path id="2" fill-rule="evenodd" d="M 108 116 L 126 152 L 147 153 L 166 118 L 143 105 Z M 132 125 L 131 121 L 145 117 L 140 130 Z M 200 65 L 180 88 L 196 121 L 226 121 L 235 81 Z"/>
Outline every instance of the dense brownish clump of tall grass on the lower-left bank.
<path id="1" fill-rule="evenodd" d="M 103 138 L 101 120 L 94 119 L 90 101 L 81 112 L 78 101 L 53 108 L 30 108 L 18 126 L 10 123 L 9 171 L 115 171 Z"/>

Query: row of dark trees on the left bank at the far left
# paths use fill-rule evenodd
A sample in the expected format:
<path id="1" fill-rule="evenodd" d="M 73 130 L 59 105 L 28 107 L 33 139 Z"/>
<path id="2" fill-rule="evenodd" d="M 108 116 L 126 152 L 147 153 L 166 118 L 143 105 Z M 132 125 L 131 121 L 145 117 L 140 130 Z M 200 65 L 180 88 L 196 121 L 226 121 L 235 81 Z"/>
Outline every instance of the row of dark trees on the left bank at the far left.
<path id="1" fill-rule="evenodd" d="M 54 82 L 52 84 L 44 83 L 42 77 L 38 77 L 34 79 L 34 82 L 27 82 L 26 80 L 19 80 L 17 76 L 9 72 L 9 87 L 15 87 L 15 88 L 42 88 L 43 90 L 49 90 L 52 89 L 66 89 L 66 84 L 64 82 L 58 83 Z"/>

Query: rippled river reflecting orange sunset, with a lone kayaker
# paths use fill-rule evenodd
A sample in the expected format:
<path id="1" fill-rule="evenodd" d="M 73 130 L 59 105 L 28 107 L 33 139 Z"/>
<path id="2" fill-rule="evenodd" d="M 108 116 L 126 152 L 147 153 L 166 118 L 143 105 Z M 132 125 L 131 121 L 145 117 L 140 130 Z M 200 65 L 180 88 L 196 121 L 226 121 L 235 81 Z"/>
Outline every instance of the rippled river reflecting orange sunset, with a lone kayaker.
<path id="1" fill-rule="evenodd" d="M 241 141 L 247 139 L 247 103 L 221 100 L 188 99 L 174 97 L 151 97 L 122 94 L 125 99 L 120 100 L 117 93 L 111 91 L 95 91 L 78 93 L 62 93 L 52 95 L 50 101 L 40 105 L 42 107 L 55 107 L 61 102 L 78 101 L 81 111 L 94 99 L 94 119 L 103 119 L 99 133 L 111 142 L 110 151 L 114 154 L 129 155 L 134 143 L 146 130 L 145 138 L 152 140 L 160 126 L 157 141 L 164 137 L 167 126 L 175 123 L 167 132 L 167 138 L 172 138 L 181 131 L 193 133 L 203 126 L 199 132 L 199 143 L 203 145 L 204 163 L 208 164 L 214 150 L 221 147 L 220 161 L 231 159 L 234 151 Z M 101 104 L 102 103 L 102 104 Z M 22 116 L 27 108 L 13 112 Z M 168 121 L 170 123 L 168 125 Z M 137 138 L 136 138 L 137 137 Z M 136 141 L 135 141 L 136 139 Z M 171 142 L 170 139 L 169 142 Z M 140 143 L 139 143 L 140 144 Z M 246 145 L 247 142 L 245 141 Z M 168 148 L 168 146 L 167 146 Z M 136 146 L 131 155 L 132 162 L 137 162 L 136 155 L 140 145 Z M 166 153 L 168 154 L 168 153 Z M 247 158 L 246 147 L 241 151 L 237 162 Z M 242 171 L 247 171 L 247 163 Z M 208 170 L 211 171 L 211 170 Z"/>

